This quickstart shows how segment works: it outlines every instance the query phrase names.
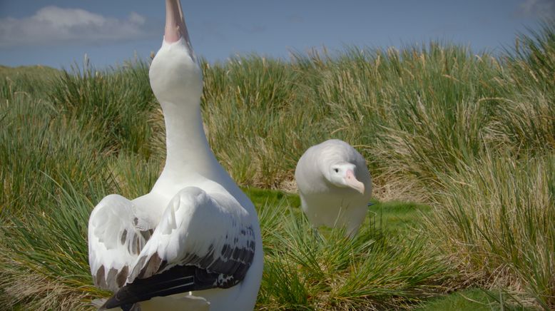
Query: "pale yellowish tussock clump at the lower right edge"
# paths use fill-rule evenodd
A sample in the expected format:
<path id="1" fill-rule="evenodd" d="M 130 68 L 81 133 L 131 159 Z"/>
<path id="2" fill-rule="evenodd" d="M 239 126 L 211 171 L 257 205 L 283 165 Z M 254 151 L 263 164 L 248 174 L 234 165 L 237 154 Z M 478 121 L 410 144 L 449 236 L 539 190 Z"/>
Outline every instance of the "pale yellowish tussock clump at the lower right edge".
<path id="1" fill-rule="evenodd" d="M 429 229 L 468 275 L 524 290 L 555 307 L 555 155 L 515 160 L 486 153 L 442 175 Z M 445 235 L 444 233 L 449 233 Z"/>

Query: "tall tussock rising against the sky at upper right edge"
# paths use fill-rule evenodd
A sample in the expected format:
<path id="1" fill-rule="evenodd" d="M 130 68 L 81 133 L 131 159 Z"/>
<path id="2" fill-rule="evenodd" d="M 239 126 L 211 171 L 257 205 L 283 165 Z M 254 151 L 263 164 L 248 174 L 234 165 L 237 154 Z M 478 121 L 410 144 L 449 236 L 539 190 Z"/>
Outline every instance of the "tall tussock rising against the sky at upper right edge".
<path id="1" fill-rule="evenodd" d="M 542 27 L 516 39 L 506 56 L 509 79 L 501 83 L 508 94 L 499 127 L 512 145 L 526 153 L 555 148 L 555 22 Z"/>

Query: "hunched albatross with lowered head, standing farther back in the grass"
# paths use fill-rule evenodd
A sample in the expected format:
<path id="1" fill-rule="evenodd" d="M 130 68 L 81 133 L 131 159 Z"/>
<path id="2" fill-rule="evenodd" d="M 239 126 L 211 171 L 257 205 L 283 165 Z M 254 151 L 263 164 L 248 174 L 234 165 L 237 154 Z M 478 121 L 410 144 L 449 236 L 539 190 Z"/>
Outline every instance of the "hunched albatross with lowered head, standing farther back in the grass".
<path id="1" fill-rule="evenodd" d="M 305 151 L 295 168 L 302 211 L 315 228 L 345 228 L 354 237 L 365 220 L 372 179 L 365 158 L 330 139 Z"/>

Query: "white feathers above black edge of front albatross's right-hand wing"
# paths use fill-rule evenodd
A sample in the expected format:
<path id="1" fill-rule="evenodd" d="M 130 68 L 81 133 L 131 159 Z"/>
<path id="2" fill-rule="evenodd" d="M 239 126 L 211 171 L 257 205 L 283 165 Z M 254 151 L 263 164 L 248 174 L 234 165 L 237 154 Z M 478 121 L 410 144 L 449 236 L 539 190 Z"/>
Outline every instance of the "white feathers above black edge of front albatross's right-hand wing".
<path id="1" fill-rule="evenodd" d="M 128 282 L 175 265 L 194 265 L 231 275 L 237 267 L 223 267 L 225 262 L 240 260 L 250 265 L 252 260 L 254 237 L 249 222 L 248 213 L 232 196 L 208 195 L 197 187 L 184 188 L 170 201 L 134 263 Z M 233 250 L 250 254 L 236 253 L 234 257 L 230 253 Z M 226 268 L 230 270 L 225 271 Z"/>

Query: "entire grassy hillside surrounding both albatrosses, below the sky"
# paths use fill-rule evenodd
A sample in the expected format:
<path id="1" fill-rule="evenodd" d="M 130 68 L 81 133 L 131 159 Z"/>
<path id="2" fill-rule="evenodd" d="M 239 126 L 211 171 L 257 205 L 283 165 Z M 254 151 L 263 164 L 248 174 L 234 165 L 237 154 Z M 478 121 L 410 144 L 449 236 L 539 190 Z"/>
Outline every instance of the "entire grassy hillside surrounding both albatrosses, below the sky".
<path id="1" fill-rule="evenodd" d="M 258 309 L 555 307 L 554 24 L 498 57 L 432 43 L 202 67 L 210 146 L 259 210 Z M 91 209 L 148 192 L 164 161 L 148 63 L 0 78 L 0 303 L 87 308 L 108 295 L 88 272 Z M 354 240 L 312 230 L 290 194 L 328 138 L 374 178 Z"/>

